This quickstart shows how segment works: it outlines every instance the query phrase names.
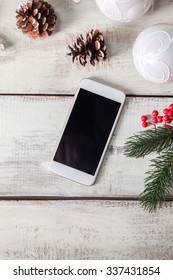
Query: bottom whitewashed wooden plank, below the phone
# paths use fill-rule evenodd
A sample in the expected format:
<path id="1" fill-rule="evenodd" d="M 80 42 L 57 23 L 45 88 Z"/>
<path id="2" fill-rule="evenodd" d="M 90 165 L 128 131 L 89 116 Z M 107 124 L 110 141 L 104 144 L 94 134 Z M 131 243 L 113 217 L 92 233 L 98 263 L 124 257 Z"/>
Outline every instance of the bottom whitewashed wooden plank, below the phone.
<path id="1" fill-rule="evenodd" d="M 0 202 L 0 259 L 172 259 L 173 204 Z"/>

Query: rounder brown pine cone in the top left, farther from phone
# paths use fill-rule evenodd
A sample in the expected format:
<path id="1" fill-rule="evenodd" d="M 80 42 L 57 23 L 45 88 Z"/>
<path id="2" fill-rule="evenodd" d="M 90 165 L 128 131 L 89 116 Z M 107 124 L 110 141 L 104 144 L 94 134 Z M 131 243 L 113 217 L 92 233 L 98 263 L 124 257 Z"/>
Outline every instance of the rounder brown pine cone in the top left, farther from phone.
<path id="1" fill-rule="evenodd" d="M 21 4 L 16 13 L 16 25 L 33 39 L 44 39 L 55 29 L 57 17 L 54 9 L 43 0 L 32 0 Z"/>

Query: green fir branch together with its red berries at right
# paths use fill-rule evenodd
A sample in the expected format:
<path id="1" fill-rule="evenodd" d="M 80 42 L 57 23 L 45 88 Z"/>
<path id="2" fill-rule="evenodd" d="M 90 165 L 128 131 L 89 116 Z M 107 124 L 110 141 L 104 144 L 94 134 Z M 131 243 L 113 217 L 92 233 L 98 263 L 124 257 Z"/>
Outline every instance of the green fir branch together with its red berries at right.
<path id="1" fill-rule="evenodd" d="M 151 170 L 146 173 L 145 189 L 140 195 L 142 206 L 149 212 L 160 208 L 166 195 L 173 190 L 173 127 L 167 124 L 173 119 L 173 103 L 163 113 L 166 114 L 162 117 L 157 110 L 152 112 L 157 123 L 159 118 L 164 121 L 163 127 L 155 125 L 153 129 L 139 132 L 130 137 L 124 147 L 124 154 L 128 157 L 144 158 L 152 152 L 158 154 L 151 160 Z M 170 122 L 167 122 L 168 118 Z M 143 115 L 141 120 L 143 127 L 148 125 L 147 116 Z"/>

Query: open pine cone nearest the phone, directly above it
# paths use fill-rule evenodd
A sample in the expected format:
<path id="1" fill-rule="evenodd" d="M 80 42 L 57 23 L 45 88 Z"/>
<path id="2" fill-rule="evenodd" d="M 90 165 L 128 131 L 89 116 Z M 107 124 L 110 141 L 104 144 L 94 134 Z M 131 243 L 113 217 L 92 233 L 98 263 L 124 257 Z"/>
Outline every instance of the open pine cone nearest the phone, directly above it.
<path id="1" fill-rule="evenodd" d="M 90 63 L 95 66 L 95 61 L 106 59 L 106 44 L 104 37 L 99 30 L 91 30 L 86 34 L 86 39 L 82 35 L 77 37 L 76 42 L 72 46 L 68 46 L 71 52 L 68 54 L 72 56 L 72 61 L 78 60 L 82 66 Z"/>

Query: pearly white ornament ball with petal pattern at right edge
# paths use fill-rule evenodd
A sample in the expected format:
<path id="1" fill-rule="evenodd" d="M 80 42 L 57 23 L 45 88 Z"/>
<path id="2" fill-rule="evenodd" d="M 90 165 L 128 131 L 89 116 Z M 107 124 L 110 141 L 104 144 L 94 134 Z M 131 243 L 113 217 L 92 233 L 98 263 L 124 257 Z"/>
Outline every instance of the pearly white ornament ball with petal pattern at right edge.
<path id="1" fill-rule="evenodd" d="M 173 81 L 173 25 L 156 24 L 137 37 L 133 47 L 136 69 L 155 83 Z"/>

